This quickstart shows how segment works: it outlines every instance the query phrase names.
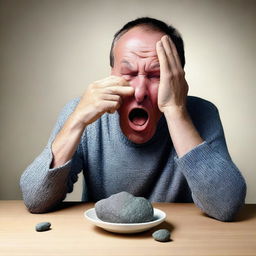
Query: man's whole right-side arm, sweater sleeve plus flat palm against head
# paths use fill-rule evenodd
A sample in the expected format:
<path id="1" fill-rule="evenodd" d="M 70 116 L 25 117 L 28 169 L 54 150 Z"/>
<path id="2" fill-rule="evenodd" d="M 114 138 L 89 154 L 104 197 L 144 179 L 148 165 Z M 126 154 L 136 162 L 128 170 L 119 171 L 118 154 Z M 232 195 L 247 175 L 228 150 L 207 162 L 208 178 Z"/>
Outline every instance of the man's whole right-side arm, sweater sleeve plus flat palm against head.
<path id="1" fill-rule="evenodd" d="M 162 37 L 156 48 L 160 62 L 158 106 L 166 117 L 179 157 L 178 169 L 184 173 L 198 207 L 219 220 L 231 220 L 244 202 L 246 185 L 231 159 L 226 158 L 218 116 L 204 120 L 205 126 L 210 123 L 215 130 L 209 136 L 211 144 L 203 143 L 186 108 L 188 85 L 177 50 L 168 36 Z M 205 138 L 209 139 L 208 135 Z"/>

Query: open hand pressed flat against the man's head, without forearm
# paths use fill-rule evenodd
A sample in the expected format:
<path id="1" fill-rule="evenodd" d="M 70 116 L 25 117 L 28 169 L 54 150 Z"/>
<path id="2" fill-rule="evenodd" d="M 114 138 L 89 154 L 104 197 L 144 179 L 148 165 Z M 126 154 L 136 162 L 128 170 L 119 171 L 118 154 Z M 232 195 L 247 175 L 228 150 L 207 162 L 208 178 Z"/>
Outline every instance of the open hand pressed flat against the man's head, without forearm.
<path id="1" fill-rule="evenodd" d="M 172 109 L 185 110 L 188 84 L 177 49 L 165 35 L 157 42 L 156 50 L 160 62 L 158 107 L 163 113 Z"/>

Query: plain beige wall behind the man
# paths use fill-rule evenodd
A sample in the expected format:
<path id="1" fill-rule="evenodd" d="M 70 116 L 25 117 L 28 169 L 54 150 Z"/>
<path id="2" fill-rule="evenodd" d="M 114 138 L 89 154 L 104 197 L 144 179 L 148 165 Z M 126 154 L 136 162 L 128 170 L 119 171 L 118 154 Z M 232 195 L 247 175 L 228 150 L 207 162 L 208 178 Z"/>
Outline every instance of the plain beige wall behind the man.
<path id="1" fill-rule="evenodd" d="M 42 151 L 63 105 L 109 75 L 113 34 L 149 15 L 185 41 L 190 95 L 214 102 L 256 203 L 256 1 L 0 1 L 0 199 Z M 82 179 L 68 199 L 79 200 Z"/>

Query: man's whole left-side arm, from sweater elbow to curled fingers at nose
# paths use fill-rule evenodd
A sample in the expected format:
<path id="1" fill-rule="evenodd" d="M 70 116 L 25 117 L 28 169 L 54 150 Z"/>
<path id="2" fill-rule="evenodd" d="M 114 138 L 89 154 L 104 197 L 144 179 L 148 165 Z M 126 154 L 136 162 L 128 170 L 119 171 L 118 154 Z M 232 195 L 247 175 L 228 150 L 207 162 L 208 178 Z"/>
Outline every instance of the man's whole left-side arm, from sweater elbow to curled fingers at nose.
<path id="1" fill-rule="evenodd" d="M 79 102 L 65 107 L 47 146 L 21 176 L 29 211 L 46 212 L 72 191 L 84 161 L 79 148 L 84 129 L 105 112 L 114 113 L 122 95 L 132 93 L 134 89 L 123 78 L 110 76 L 92 83 Z"/>

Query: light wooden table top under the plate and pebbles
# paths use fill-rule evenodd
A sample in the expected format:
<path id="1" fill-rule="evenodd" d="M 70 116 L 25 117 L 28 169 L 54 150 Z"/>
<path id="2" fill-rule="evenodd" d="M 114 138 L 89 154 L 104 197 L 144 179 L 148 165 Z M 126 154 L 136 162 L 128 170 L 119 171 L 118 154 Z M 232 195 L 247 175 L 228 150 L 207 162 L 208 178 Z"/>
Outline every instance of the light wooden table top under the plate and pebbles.
<path id="1" fill-rule="evenodd" d="M 0 201 L 0 255 L 256 255 L 256 205 L 246 205 L 235 222 L 204 215 L 194 204 L 155 203 L 166 212 L 164 223 L 149 231 L 121 235 L 93 226 L 84 218 L 91 203 L 63 203 L 55 212 L 29 213 L 22 201 Z M 52 229 L 36 232 L 38 222 Z M 156 242 L 159 228 L 171 231 L 172 241 Z"/>

